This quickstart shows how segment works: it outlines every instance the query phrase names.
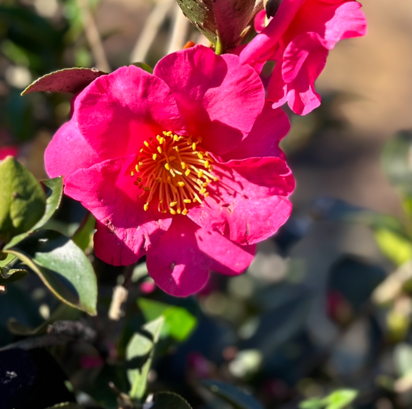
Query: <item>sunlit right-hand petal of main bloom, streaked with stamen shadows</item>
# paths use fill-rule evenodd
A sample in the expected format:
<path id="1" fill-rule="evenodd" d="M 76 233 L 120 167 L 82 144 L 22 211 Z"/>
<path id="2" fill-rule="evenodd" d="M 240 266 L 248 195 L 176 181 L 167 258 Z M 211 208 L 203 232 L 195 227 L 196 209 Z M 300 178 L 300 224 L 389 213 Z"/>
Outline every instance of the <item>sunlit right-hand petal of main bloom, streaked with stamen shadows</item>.
<path id="1" fill-rule="evenodd" d="M 217 182 L 210 183 L 202 205 L 188 216 L 207 231 L 216 231 L 241 245 L 275 234 L 289 218 L 287 196 L 295 180 L 279 158 L 252 158 L 213 164 Z"/>

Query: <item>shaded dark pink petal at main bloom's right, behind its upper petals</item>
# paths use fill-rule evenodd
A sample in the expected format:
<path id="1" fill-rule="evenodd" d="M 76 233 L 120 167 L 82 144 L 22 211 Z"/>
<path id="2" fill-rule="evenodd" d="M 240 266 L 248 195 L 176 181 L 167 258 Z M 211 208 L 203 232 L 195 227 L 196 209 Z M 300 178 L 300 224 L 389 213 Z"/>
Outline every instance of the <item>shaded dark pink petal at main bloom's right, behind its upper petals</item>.
<path id="1" fill-rule="evenodd" d="M 288 115 L 280 108 L 273 109 L 272 102 L 267 100 L 249 135 L 235 149 L 223 155 L 223 159 L 226 162 L 232 159 L 266 157 L 285 159 L 279 142 L 290 128 Z"/>

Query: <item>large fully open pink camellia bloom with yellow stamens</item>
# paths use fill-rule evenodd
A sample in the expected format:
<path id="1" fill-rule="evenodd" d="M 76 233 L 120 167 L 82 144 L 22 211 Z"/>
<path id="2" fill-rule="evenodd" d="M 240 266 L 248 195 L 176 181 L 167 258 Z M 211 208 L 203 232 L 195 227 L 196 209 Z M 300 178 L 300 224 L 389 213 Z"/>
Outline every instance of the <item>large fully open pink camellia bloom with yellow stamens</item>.
<path id="1" fill-rule="evenodd" d="M 196 46 L 153 74 L 122 67 L 88 85 L 45 165 L 96 217 L 99 258 L 146 254 L 156 284 L 187 296 L 210 270 L 244 271 L 288 219 L 295 182 L 278 147 L 288 130 L 253 68 Z"/>

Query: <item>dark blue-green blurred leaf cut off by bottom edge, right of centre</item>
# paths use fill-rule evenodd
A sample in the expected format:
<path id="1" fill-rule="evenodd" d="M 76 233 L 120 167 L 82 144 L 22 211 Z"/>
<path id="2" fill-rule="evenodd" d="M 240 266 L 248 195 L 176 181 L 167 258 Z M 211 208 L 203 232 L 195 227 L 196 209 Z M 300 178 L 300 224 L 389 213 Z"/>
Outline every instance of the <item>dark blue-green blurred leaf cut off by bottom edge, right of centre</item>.
<path id="1" fill-rule="evenodd" d="M 233 385 L 214 380 L 206 380 L 201 383 L 236 409 L 263 409 L 262 405 L 255 398 Z"/>

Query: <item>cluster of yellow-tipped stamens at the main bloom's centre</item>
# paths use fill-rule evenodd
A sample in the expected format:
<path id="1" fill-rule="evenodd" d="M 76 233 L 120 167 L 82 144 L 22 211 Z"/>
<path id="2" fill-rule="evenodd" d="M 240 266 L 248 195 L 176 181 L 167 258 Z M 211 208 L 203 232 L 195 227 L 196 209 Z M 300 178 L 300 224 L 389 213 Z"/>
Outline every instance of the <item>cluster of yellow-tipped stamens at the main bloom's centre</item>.
<path id="1" fill-rule="evenodd" d="M 202 203 L 201 196 L 209 195 L 207 185 L 217 181 L 217 177 L 210 173 L 213 159 L 200 147 L 201 142 L 201 137 L 194 141 L 192 136 L 176 135 L 170 131 L 163 131 L 162 136 L 143 142 L 130 174 L 136 177 L 133 183 L 147 192 L 144 210 L 149 208 L 156 192 L 159 212 L 169 211 L 173 215 L 186 215 L 187 204 Z"/>

